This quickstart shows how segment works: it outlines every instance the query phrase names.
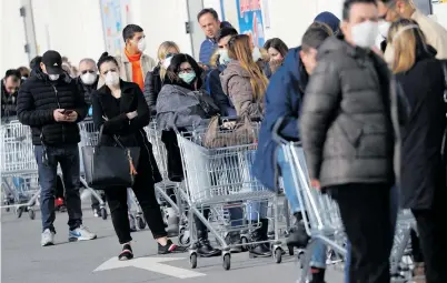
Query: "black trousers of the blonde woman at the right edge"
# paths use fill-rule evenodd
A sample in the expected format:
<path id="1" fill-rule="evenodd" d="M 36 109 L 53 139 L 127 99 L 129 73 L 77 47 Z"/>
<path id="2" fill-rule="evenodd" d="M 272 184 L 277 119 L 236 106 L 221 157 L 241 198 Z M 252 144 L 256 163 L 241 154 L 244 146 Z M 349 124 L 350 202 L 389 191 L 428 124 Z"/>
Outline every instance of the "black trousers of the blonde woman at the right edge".
<path id="1" fill-rule="evenodd" d="M 435 192 L 431 209 L 411 210 L 419 233 L 427 283 L 447 282 L 446 202 L 446 189 L 439 188 Z"/>

